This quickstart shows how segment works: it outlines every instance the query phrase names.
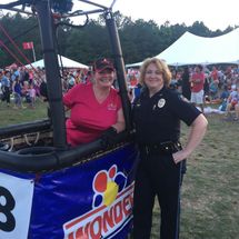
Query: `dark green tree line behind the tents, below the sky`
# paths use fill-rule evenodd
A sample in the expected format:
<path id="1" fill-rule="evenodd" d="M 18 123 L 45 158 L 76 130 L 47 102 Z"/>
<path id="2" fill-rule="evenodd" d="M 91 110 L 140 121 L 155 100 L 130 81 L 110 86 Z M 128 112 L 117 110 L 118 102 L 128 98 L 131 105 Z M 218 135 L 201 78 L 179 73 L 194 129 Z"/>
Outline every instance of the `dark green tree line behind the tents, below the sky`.
<path id="1" fill-rule="evenodd" d="M 223 31 L 219 29 L 211 31 L 202 21 L 196 21 L 190 27 L 185 23 L 170 24 L 169 21 L 158 26 L 152 20 L 132 20 L 119 11 L 113 14 L 119 30 L 125 63 L 142 61 L 147 57 L 159 54 L 186 31 L 201 37 L 218 37 L 238 27 L 228 26 Z M 71 23 L 70 19 L 63 21 Z M 72 60 L 91 64 L 99 57 L 111 57 L 108 30 L 102 16 L 99 16 L 98 19 L 90 19 L 88 24 L 82 28 L 59 24 L 56 27 L 56 36 L 57 52 Z M 29 61 L 33 61 L 32 50 L 23 50 L 23 42 L 33 42 L 37 60 L 42 59 L 38 19 L 34 16 L 26 17 L 20 13 L 7 13 L 1 17 L 0 68 L 13 62 L 17 64 L 29 63 L 19 50 L 26 54 Z"/>

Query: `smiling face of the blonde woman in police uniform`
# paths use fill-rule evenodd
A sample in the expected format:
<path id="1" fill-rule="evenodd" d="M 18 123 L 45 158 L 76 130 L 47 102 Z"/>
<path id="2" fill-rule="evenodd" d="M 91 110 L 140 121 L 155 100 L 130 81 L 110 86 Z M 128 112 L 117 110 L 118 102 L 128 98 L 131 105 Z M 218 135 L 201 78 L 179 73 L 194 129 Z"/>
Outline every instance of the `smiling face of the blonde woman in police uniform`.
<path id="1" fill-rule="evenodd" d="M 149 91 L 157 92 L 163 87 L 163 76 L 156 63 L 150 63 L 146 68 L 145 83 Z"/>

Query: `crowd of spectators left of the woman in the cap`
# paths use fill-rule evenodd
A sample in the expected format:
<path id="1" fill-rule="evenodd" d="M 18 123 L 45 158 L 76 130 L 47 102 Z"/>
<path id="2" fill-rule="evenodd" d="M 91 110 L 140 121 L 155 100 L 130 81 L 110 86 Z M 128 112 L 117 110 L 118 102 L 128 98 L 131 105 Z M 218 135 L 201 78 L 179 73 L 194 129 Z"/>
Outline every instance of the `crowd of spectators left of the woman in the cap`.
<path id="1" fill-rule="evenodd" d="M 62 92 L 74 84 L 89 82 L 91 71 L 86 69 L 66 69 L 62 72 Z M 41 93 L 42 90 L 42 93 Z M 44 69 L 23 67 L 0 69 L 0 101 L 13 109 L 36 108 L 36 101 L 46 100 L 47 84 Z M 3 104 L 2 103 L 2 104 Z"/>

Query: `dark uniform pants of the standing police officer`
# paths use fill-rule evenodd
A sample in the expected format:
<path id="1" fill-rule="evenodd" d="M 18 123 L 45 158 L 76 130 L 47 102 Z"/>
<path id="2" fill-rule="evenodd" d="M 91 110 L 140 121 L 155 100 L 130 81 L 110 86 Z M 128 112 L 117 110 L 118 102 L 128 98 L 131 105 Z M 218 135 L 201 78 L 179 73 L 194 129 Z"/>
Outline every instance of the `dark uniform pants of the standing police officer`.
<path id="1" fill-rule="evenodd" d="M 133 196 L 133 239 L 149 239 L 155 198 L 161 210 L 160 239 L 179 238 L 181 162 L 171 153 L 141 150 Z"/>

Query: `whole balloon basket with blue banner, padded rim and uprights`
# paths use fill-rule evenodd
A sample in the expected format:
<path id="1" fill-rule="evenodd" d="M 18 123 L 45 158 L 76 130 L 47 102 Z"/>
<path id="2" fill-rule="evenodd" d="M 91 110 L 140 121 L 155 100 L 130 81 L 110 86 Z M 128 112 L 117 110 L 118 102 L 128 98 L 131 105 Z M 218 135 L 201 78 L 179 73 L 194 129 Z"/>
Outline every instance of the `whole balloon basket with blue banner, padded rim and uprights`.
<path id="1" fill-rule="evenodd" d="M 0 196 L 7 201 L 6 205 L 0 202 L 7 217 L 7 221 L 0 220 L 2 238 L 72 239 L 81 236 L 91 238 L 93 235 L 93 238 L 121 239 L 131 230 L 132 191 L 138 153 L 132 141 L 131 106 L 127 91 L 125 62 L 112 13 L 116 1 L 110 7 L 88 0 L 79 1 L 96 9 L 69 12 L 68 8 L 56 12 L 56 8 L 54 11 L 51 8 L 51 0 L 19 0 L 0 4 L 0 9 L 34 14 L 38 18 L 51 114 L 50 119 L 0 128 Z M 92 13 L 102 13 L 106 19 L 126 130 L 118 133 L 114 142 L 107 147 L 102 146 L 101 139 L 97 139 L 72 148 L 66 140 L 66 116 L 54 42 L 54 17 L 56 14 L 60 14 L 61 18 L 84 16 L 83 26 L 71 26 L 81 28 L 87 26 Z M 58 24 L 63 24 L 60 18 Z M 110 178 L 111 181 L 104 183 L 104 189 L 108 190 L 109 186 L 109 189 L 113 188 L 113 193 L 108 191 L 102 193 L 101 187 L 96 185 L 99 176 Z M 120 183 L 120 180 L 123 183 Z M 28 186 L 21 188 L 22 181 Z M 73 195 L 70 189 L 73 189 Z M 18 192 L 14 195 L 14 191 Z M 104 197 L 103 201 L 107 202 L 101 201 L 101 206 L 98 207 L 99 201 L 96 200 L 98 197 Z M 13 208 L 19 208 L 19 211 L 16 212 Z M 101 216 L 99 216 L 100 210 Z M 29 221 L 22 220 L 22 213 L 24 220 L 29 218 Z M 100 223 L 104 223 L 104 227 L 96 227 Z M 24 236 L 20 236 L 19 231 Z"/>

